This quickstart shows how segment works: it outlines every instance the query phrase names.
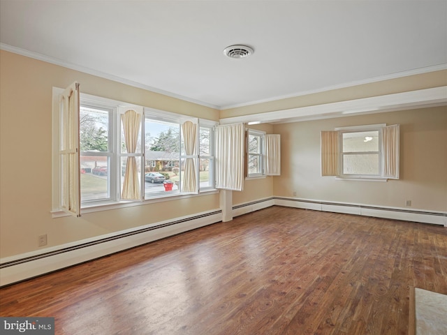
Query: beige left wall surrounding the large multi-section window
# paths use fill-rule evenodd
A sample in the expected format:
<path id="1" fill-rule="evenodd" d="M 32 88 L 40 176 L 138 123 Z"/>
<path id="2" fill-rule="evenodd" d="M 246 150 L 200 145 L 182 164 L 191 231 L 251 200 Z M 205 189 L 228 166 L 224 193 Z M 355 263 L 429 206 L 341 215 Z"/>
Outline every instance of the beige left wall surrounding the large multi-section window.
<path id="1" fill-rule="evenodd" d="M 81 218 L 52 218 L 52 87 L 75 80 L 87 94 L 219 120 L 219 111 L 93 75 L 0 54 L 0 256 L 57 246 L 158 221 L 219 209 L 219 194 L 98 211 Z"/>

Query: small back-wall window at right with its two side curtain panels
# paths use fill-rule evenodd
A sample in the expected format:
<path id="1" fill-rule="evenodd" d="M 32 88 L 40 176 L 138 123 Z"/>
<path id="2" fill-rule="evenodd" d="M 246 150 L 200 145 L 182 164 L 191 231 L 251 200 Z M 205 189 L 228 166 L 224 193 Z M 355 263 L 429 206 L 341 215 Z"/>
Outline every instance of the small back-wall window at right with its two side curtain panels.
<path id="1" fill-rule="evenodd" d="M 321 132 L 321 175 L 399 178 L 399 125 L 376 124 Z"/>

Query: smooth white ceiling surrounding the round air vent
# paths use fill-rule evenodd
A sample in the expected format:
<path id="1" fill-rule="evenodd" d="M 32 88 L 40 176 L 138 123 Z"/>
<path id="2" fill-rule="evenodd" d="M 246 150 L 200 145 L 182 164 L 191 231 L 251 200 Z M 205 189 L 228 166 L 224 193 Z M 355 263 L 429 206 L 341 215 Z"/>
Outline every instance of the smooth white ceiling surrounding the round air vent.
<path id="1" fill-rule="evenodd" d="M 0 0 L 3 50 L 225 109 L 446 68 L 447 1 Z M 245 44 L 246 59 L 223 49 Z"/>

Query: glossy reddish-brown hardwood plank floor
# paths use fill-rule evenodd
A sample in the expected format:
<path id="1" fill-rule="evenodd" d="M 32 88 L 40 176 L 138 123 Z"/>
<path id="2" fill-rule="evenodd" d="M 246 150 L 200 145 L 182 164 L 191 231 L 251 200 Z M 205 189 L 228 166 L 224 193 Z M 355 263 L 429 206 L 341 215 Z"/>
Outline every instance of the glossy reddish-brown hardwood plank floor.
<path id="1" fill-rule="evenodd" d="M 447 228 L 270 207 L 0 289 L 56 334 L 407 334 L 447 294 Z"/>

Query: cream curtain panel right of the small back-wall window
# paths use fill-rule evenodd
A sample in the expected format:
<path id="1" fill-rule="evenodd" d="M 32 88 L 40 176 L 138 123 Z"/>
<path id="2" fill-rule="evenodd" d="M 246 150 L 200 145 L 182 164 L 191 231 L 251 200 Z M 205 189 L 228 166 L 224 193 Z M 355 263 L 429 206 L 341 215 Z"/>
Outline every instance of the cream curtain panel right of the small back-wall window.
<path id="1" fill-rule="evenodd" d="M 382 128 L 382 177 L 399 179 L 399 125 Z"/>

